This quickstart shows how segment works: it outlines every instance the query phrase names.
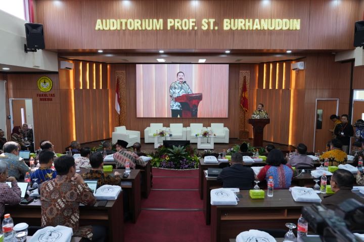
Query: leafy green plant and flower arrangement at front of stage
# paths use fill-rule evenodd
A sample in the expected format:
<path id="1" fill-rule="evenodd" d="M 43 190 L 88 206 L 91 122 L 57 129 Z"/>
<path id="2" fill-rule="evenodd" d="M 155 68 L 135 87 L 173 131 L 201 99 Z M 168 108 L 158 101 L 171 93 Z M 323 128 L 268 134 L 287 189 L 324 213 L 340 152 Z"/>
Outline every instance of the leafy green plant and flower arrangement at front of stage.
<path id="1" fill-rule="evenodd" d="M 195 169 L 198 167 L 200 159 L 196 149 L 189 145 L 172 146 L 172 148 L 162 145 L 148 156 L 152 158 L 153 167 L 169 169 Z"/>

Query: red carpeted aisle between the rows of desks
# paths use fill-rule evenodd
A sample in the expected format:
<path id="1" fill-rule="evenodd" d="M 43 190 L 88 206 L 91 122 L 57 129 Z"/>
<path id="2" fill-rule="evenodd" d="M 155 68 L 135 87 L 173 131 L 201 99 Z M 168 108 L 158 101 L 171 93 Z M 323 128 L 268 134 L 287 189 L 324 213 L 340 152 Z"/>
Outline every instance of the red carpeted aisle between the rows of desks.
<path id="1" fill-rule="evenodd" d="M 125 224 L 125 242 L 208 242 L 210 226 L 204 223 L 198 194 L 198 170 L 153 168 L 153 188 L 142 200 L 135 224 Z"/>

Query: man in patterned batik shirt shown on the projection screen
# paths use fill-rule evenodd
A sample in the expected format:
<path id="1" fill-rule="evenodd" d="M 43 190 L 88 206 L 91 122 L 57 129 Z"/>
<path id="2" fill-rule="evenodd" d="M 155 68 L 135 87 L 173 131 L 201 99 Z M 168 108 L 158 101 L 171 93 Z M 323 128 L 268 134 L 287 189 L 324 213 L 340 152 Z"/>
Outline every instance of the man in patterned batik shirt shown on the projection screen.
<path id="1" fill-rule="evenodd" d="M 191 94 L 192 90 L 190 86 L 185 81 L 185 73 L 178 72 L 177 80 L 172 82 L 169 87 L 170 96 L 170 109 L 172 112 L 172 117 L 182 117 L 182 106 L 179 102 L 174 101 L 174 98 L 179 97 L 183 94 Z"/>

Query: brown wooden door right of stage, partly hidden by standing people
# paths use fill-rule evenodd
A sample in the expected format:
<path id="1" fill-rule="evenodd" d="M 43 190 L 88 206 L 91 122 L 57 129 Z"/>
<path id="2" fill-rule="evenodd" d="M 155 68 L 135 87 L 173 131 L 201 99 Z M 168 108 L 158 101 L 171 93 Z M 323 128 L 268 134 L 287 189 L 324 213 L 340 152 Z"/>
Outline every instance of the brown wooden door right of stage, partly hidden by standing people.
<path id="1" fill-rule="evenodd" d="M 329 130 L 333 129 L 334 123 L 331 121 L 330 116 L 332 114 L 337 115 L 338 100 L 317 100 L 316 114 L 317 110 L 319 110 L 320 113 L 319 118 L 322 119 L 320 120 L 322 123 L 320 123 L 319 118 L 315 115 L 316 127 L 315 127 L 314 151 L 317 152 L 317 150 L 320 150 L 322 152 L 326 150 L 327 142 L 332 139 L 332 133 Z M 322 110 L 322 115 L 321 115 L 321 110 Z"/>

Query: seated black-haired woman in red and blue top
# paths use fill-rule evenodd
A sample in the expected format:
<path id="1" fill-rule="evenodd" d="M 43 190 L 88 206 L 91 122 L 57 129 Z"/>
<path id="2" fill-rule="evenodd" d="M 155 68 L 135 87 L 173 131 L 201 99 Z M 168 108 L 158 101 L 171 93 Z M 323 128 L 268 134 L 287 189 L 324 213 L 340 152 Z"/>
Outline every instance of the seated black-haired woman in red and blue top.
<path id="1" fill-rule="evenodd" d="M 284 165 L 285 157 L 282 151 L 272 149 L 265 165 L 258 173 L 258 180 L 268 181 L 269 176 L 273 177 L 274 189 L 289 189 L 293 178 L 293 170 L 290 166 Z"/>

